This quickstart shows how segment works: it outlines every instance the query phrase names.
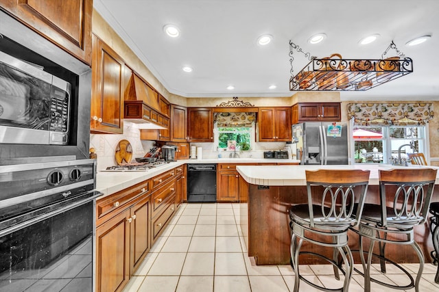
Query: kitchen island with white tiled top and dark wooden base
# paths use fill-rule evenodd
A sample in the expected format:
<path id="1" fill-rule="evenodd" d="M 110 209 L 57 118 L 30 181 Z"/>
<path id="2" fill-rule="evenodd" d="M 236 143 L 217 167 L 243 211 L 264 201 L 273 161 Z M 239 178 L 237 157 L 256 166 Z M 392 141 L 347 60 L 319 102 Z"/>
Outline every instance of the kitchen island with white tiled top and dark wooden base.
<path id="1" fill-rule="evenodd" d="M 392 168 L 406 168 L 401 166 L 383 164 L 364 165 L 259 165 L 237 166 L 240 174 L 241 185 L 246 185 L 247 190 L 241 191 L 240 225 L 244 240 L 248 248 L 248 256 L 253 256 L 257 265 L 285 265 L 289 264 L 289 232 L 288 209 L 292 204 L 307 203 L 307 189 L 305 170 L 327 168 L 331 170 L 361 169 L 370 170 L 370 180 L 366 202 L 379 203 L 379 170 Z M 423 166 L 410 166 L 411 169 L 425 168 Z M 431 167 L 435 168 L 435 167 Z M 436 185 L 439 178 L 436 178 Z M 434 190 L 432 202 L 439 201 L 439 187 Z M 425 261 L 431 262 L 429 253 L 433 250 L 431 235 L 427 224 L 416 226 L 416 237 L 424 251 Z M 358 250 L 358 237 L 355 233 L 348 233 L 351 250 Z M 368 242 L 365 239 L 366 248 Z M 302 250 L 316 252 L 315 248 L 321 247 L 304 243 Z M 332 254 L 328 249 L 327 255 Z M 418 257 L 410 247 L 401 247 L 394 244 L 386 246 L 386 253 L 398 263 L 416 263 Z M 354 252 L 355 262 L 359 263 L 358 253 Z M 324 263 L 320 258 L 304 255 L 301 263 Z"/>

